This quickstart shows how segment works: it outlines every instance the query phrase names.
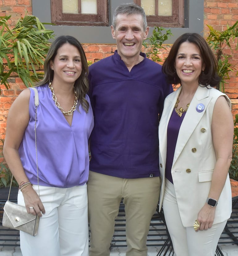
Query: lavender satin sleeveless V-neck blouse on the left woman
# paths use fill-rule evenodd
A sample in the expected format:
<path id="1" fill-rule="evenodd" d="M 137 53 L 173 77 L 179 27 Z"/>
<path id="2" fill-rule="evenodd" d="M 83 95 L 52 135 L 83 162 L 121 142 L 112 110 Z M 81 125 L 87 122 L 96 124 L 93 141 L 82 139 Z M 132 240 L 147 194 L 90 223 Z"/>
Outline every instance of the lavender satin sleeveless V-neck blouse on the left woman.
<path id="1" fill-rule="evenodd" d="M 93 128 L 91 105 L 88 113 L 80 105 L 73 113 L 70 126 L 55 106 L 48 84 L 36 89 L 39 94 L 36 123 L 39 185 L 66 188 L 85 184 L 89 172 L 88 138 Z M 34 95 L 31 89 L 30 120 L 19 155 L 29 181 L 37 184 Z"/>

